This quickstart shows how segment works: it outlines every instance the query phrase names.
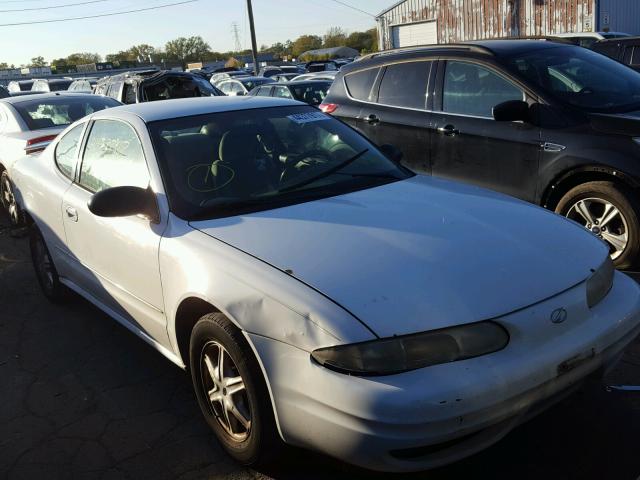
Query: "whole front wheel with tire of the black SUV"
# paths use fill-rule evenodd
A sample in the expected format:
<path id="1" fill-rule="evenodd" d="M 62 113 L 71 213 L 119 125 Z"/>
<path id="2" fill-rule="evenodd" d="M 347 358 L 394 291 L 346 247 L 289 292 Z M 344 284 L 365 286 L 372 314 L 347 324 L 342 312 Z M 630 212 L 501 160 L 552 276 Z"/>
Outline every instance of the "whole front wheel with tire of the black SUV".
<path id="1" fill-rule="evenodd" d="M 604 240 L 617 268 L 638 265 L 640 204 L 626 186 L 606 181 L 583 183 L 569 190 L 555 211 Z"/>

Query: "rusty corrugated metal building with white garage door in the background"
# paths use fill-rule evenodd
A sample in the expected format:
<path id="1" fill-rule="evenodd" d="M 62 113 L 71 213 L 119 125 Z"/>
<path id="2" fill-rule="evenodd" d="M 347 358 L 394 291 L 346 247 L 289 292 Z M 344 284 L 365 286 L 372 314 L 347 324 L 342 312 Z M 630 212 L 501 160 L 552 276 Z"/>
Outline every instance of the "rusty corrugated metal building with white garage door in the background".
<path id="1" fill-rule="evenodd" d="M 403 0 L 376 19 L 381 49 L 568 32 L 640 35 L 640 0 Z"/>

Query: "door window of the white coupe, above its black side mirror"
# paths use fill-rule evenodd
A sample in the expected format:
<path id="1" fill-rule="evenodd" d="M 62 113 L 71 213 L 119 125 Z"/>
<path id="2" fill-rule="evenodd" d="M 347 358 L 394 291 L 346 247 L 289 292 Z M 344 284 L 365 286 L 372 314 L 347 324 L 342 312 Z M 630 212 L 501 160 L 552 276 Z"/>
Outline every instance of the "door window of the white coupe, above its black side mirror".
<path id="1" fill-rule="evenodd" d="M 95 121 L 82 158 L 80 185 L 92 192 L 149 185 L 142 145 L 133 128 L 115 120 Z"/>

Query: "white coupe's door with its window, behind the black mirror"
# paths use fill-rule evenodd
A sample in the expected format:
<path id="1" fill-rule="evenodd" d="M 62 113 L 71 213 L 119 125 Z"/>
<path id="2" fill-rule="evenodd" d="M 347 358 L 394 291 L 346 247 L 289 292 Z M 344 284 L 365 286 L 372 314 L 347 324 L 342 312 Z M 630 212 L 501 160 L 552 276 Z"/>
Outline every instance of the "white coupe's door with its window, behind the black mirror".
<path id="1" fill-rule="evenodd" d="M 142 216 L 98 217 L 87 206 L 94 193 L 106 188 L 149 186 L 143 146 L 134 128 L 122 121 L 96 120 L 89 128 L 79 174 L 62 204 L 67 246 L 79 277 L 73 280 L 168 345 L 158 263 L 166 218 L 154 224 Z"/>

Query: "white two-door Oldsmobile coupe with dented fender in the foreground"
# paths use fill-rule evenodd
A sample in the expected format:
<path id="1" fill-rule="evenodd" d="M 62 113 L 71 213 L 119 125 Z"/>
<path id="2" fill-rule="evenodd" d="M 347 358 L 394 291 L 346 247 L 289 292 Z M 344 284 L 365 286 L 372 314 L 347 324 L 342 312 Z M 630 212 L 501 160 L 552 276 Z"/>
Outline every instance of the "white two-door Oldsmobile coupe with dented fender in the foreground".
<path id="1" fill-rule="evenodd" d="M 14 180 L 46 296 L 187 368 L 235 459 L 415 471 L 610 368 L 640 288 L 579 225 L 398 160 L 302 103 L 198 98 L 95 113 Z"/>

